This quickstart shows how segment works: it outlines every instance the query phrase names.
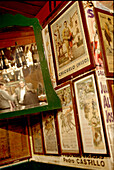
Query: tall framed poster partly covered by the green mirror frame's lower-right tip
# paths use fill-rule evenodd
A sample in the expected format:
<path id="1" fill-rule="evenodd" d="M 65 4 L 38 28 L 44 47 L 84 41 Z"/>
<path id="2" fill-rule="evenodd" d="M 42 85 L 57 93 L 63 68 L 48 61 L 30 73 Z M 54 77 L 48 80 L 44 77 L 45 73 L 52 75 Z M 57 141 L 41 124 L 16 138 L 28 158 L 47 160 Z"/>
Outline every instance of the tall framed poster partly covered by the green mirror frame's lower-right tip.
<path id="1" fill-rule="evenodd" d="M 61 154 L 81 154 L 78 122 L 76 119 L 72 83 L 67 82 L 56 88 L 62 104 L 57 112 L 57 124 Z"/>

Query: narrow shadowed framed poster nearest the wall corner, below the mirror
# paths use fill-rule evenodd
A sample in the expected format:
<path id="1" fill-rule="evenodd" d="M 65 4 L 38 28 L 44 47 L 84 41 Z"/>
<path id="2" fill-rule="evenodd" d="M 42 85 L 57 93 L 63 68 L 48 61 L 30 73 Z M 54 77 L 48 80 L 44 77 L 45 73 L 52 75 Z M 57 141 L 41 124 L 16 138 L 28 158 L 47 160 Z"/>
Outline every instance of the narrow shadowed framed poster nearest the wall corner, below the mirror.
<path id="1" fill-rule="evenodd" d="M 41 115 L 31 116 L 31 130 L 32 130 L 32 141 L 33 141 L 33 150 L 35 154 L 43 154 L 43 134 L 42 134 L 42 124 L 41 124 Z"/>

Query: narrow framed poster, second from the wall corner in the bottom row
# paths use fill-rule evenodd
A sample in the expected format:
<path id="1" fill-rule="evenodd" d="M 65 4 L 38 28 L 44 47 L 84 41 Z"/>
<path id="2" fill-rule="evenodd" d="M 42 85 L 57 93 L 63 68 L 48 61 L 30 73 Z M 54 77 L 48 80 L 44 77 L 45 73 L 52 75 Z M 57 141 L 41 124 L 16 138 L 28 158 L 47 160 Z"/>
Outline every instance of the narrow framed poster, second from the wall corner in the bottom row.
<path id="1" fill-rule="evenodd" d="M 54 112 L 43 112 L 42 124 L 45 154 L 59 154 Z"/>

